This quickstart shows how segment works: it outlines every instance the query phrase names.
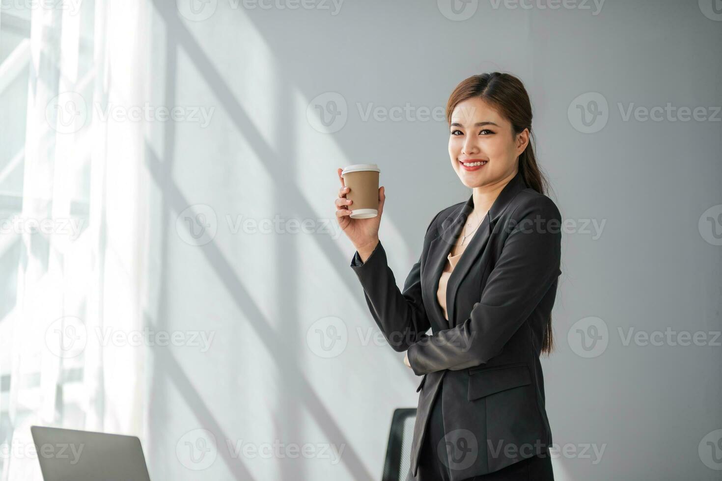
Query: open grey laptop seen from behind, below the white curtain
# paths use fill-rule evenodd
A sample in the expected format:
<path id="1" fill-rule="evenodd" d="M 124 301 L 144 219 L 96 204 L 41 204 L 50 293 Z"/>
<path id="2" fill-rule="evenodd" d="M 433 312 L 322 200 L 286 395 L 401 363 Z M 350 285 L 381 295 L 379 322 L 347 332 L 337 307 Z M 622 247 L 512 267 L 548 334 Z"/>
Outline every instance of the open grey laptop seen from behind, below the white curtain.
<path id="1" fill-rule="evenodd" d="M 137 436 L 31 426 L 45 481 L 150 481 Z"/>

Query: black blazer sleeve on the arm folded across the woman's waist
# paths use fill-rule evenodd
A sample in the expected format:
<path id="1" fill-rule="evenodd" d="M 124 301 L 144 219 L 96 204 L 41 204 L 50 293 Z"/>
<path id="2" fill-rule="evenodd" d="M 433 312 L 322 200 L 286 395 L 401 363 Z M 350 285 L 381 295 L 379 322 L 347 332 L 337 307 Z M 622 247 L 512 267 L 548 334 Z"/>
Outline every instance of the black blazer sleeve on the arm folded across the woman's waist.
<path id="1" fill-rule="evenodd" d="M 409 346 L 417 375 L 486 363 L 534 311 L 561 274 L 561 215 L 551 199 L 518 206 L 502 252 L 470 317 Z"/>

